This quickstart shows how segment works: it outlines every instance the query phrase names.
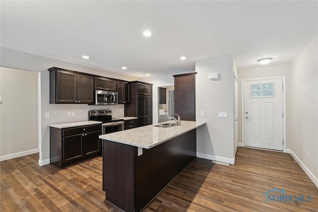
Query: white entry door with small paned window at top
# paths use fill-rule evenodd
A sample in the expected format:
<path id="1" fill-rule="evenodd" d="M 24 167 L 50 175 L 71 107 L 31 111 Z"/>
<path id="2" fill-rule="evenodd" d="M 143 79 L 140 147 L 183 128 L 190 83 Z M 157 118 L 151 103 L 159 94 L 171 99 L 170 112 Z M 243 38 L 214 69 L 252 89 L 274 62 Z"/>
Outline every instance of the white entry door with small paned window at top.
<path id="1" fill-rule="evenodd" d="M 244 81 L 244 146 L 283 150 L 283 79 Z"/>

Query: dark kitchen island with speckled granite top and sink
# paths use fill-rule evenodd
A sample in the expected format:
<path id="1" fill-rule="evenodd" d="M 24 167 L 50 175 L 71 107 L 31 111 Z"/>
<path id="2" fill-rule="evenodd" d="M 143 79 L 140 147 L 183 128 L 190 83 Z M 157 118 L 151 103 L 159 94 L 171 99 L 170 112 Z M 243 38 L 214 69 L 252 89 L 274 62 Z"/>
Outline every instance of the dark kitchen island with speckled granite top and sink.
<path id="1" fill-rule="evenodd" d="M 204 124 L 181 121 L 181 126 L 149 125 L 99 136 L 106 201 L 124 211 L 142 211 L 196 157 L 196 128 Z"/>

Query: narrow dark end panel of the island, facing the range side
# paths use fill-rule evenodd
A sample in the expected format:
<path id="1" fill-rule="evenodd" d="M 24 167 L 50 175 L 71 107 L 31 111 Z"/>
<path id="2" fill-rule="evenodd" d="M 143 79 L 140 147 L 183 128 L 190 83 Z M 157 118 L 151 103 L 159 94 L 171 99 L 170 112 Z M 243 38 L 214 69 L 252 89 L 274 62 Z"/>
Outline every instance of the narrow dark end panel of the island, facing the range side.
<path id="1" fill-rule="evenodd" d="M 103 140 L 103 191 L 106 201 L 134 211 L 134 146 Z"/>

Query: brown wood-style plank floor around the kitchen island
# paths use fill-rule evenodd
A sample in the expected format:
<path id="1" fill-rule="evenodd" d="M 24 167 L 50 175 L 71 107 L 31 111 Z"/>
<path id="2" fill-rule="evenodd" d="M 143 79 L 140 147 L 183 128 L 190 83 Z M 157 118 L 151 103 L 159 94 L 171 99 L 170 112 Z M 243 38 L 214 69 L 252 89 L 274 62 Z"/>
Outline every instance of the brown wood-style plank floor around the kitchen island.
<path id="1" fill-rule="evenodd" d="M 119 211 L 104 202 L 101 157 L 62 170 L 38 159 L 0 162 L 1 212 Z M 312 201 L 266 203 L 273 188 Z M 318 189 L 290 154 L 239 147 L 235 165 L 196 158 L 144 211 L 318 212 Z"/>

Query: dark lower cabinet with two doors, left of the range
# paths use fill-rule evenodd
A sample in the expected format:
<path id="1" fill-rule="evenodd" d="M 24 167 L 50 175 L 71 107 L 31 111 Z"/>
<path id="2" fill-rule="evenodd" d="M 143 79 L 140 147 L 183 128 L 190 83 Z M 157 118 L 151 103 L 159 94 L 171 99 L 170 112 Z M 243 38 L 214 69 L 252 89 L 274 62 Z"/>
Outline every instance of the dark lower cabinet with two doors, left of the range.
<path id="1" fill-rule="evenodd" d="M 50 127 L 50 163 L 64 168 L 101 154 L 101 125 Z"/>

